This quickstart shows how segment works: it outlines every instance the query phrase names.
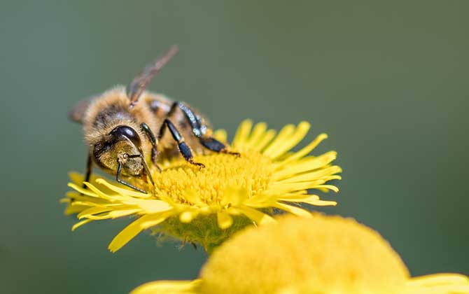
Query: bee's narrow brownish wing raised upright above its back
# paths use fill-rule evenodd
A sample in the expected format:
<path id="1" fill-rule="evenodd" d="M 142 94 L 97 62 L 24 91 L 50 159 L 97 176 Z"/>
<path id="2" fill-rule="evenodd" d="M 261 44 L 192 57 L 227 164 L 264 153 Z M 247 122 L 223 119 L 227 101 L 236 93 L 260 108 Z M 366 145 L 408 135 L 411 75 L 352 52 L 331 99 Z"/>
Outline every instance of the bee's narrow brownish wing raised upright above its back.
<path id="1" fill-rule="evenodd" d="M 150 83 L 150 80 L 153 78 L 153 76 L 155 76 L 155 74 L 158 73 L 158 71 L 160 71 L 174 55 L 176 55 L 178 50 L 179 49 L 177 46 L 173 45 L 171 48 L 169 48 L 169 51 L 165 55 L 156 59 L 156 61 L 152 64 L 148 64 L 144 68 L 144 71 L 139 73 L 139 75 L 137 75 L 134 80 L 132 80 L 132 83 L 130 83 L 129 92 L 127 93 L 127 97 L 130 99 L 129 107 L 131 109 L 135 106 L 135 104 L 137 104 L 141 93 L 144 92 L 146 86 L 148 83 Z"/>

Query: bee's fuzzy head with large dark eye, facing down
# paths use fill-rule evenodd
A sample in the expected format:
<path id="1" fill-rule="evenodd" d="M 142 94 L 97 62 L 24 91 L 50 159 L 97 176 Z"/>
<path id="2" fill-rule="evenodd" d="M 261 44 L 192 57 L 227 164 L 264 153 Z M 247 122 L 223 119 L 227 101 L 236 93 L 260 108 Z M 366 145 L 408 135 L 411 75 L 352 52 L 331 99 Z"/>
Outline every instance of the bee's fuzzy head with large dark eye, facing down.
<path id="1" fill-rule="evenodd" d="M 139 133 L 128 125 L 118 125 L 111 130 L 92 146 L 92 153 L 98 165 L 113 172 L 119 164 L 127 176 L 138 176 L 144 170 Z"/>

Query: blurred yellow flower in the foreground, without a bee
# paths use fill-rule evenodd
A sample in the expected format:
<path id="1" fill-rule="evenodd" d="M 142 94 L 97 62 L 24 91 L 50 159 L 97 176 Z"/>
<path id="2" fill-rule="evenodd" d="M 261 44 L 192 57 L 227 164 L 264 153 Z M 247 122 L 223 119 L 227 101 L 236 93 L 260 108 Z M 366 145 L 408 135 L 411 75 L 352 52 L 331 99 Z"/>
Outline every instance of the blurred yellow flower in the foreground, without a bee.
<path id="1" fill-rule="evenodd" d="M 195 281 L 154 281 L 131 294 L 469 293 L 460 274 L 412 278 L 377 232 L 353 219 L 283 216 L 216 248 Z"/>

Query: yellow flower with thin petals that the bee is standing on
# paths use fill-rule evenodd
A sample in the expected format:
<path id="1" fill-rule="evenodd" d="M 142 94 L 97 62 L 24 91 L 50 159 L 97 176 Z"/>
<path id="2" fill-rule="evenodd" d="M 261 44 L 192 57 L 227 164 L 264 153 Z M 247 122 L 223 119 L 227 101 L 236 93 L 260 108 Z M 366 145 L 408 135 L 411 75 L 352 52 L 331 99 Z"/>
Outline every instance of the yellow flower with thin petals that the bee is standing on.
<path id="1" fill-rule="evenodd" d="M 326 183 L 340 179 L 337 173 L 342 170 L 331 165 L 336 153 L 309 155 L 327 138 L 325 134 L 292 152 L 309 131 L 309 123 L 286 125 L 277 135 L 265 123 L 251 127 L 250 120 L 241 123 L 232 141 L 232 150 L 241 153 L 239 158 L 197 155 L 195 161 L 202 162 L 204 169 L 183 158 L 172 158 L 162 162 L 161 173 L 153 168 L 155 187 L 134 180 L 134 185 L 150 190 L 148 194 L 95 177 L 83 189 L 83 176 L 71 174 L 69 186 L 75 191 L 67 193 L 63 201 L 69 204 L 66 214 L 78 214 L 80 219 L 72 230 L 91 221 L 138 216 L 111 241 L 109 250 L 117 251 L 142 230 L 153 228 L 155 233 L 201 244 L 211 251 L 247 225 L 274 222 L 275 209 L 311 217 L 297 204 L 336 204 L 307 193 L 309 189 L 338 190 Z M 224 131 L 215 136 L 226 141 Z"/>

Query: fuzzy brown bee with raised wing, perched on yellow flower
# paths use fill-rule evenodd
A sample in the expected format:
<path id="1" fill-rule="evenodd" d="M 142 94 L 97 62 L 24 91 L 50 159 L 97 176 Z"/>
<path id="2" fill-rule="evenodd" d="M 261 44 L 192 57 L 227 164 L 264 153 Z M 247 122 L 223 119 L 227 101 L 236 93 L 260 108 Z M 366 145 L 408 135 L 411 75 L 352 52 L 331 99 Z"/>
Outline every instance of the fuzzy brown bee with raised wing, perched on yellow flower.
<path id="1" fill-rule="evenodd" d="M 204 165 L 195 162 L 193 157 L 204 150 L 239 156 L 212 137 L 207 118 L 188 104 L 146 91 L 153 76 L 177 51 L 173 46 L 146 66 L 132 80 L 128 91 L 118 85 L 79 102 L 70 111 L 69 118 L 83 125 L 85 143 L 89 147 L 85 181 L 89 181 L 92 167 L 97 165 L 116 176 L 118 183 L 146 193 L 123 178 L 140 178 L 154 186 L 148 161 L 161 172 L 158 159 L 179 156 L 178 153 L 200 168 Z"/>

